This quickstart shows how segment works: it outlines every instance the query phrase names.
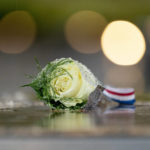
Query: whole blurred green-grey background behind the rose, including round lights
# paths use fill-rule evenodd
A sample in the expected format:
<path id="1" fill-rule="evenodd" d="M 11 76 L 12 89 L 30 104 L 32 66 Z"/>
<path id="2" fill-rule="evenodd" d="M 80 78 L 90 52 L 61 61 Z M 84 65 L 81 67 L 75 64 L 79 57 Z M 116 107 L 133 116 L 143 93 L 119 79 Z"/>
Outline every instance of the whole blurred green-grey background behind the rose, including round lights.
<path id="1" fill-rule="evenodd" d="M 72 57 L 105 85 L 150 92 L 149 0 L 1 0 L 0 96 L 36 74 L 34 57 Z"/>

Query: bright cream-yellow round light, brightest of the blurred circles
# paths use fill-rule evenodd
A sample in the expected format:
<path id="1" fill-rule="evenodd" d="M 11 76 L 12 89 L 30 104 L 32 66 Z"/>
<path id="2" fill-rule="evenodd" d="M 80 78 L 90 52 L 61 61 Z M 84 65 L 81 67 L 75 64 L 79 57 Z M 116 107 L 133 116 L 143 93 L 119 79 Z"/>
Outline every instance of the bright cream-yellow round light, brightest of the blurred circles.
<path id="1" fill-rule="evenodd" d="M 105 56 L 118 65 L 134 65 L 145 53 L 145 39 L 137 26 L 113 21 L 104 30 L 101 45 Z"/>

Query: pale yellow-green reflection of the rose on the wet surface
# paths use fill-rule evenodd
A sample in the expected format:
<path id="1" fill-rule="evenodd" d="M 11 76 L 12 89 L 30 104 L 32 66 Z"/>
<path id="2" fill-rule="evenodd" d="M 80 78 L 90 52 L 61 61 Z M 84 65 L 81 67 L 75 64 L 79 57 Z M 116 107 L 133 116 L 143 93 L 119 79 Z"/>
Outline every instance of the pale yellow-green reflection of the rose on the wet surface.
<path id="1" fill-rule="evenodd" d="M 88 113 L 66 111 L 50 113 L 38 124 L 52 131 L 86 131 L 94 126 L 92 121 Z"/>

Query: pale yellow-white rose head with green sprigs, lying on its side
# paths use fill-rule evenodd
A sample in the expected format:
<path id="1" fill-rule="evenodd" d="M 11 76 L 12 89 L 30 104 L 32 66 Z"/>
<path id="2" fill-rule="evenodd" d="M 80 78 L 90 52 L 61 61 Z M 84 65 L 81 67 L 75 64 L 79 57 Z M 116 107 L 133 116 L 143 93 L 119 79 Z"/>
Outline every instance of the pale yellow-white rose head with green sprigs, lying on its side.
<path id="1" fill-rule="evenodd" d="M 52 108 L 81 108 L 98 84 L 87 67 L 62 58 L 48 63 L 27 86 Z"/>

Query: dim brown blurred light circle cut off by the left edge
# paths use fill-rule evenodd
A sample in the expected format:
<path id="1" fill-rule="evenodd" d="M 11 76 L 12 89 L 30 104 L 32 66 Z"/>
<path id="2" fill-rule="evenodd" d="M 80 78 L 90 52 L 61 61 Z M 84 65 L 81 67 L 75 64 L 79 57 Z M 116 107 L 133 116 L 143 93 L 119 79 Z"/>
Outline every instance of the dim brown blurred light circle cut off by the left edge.
<path id="1" fill-rule="evenodd" d="M 0 50 L 5 53 L 21 53 L 35 39 L 36 25 L 26 11 L 13 11 L 0 22 Z"/>

